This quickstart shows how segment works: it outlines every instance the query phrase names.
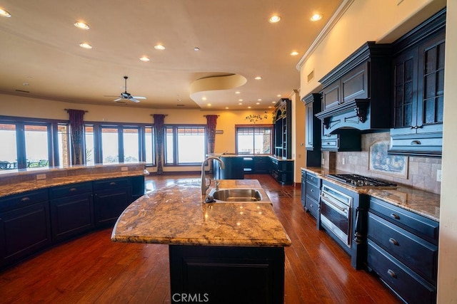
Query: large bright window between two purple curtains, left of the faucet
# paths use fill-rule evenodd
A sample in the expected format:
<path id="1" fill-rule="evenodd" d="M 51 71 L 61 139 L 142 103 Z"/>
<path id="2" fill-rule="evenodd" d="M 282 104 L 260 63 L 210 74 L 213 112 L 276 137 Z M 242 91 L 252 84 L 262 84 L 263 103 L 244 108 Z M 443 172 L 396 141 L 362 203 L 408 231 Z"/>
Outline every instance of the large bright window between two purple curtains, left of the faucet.
<path id="1" fill-rule="evenodd" d="M 165 164 L 201 164 L 206 156 L 206 127 L 166 126 Z"/>

